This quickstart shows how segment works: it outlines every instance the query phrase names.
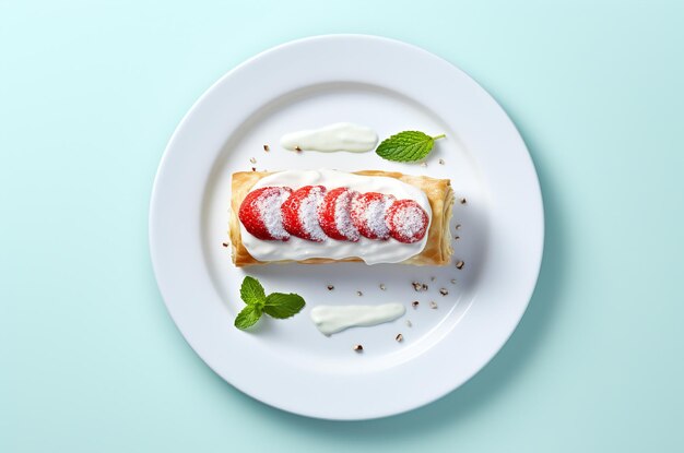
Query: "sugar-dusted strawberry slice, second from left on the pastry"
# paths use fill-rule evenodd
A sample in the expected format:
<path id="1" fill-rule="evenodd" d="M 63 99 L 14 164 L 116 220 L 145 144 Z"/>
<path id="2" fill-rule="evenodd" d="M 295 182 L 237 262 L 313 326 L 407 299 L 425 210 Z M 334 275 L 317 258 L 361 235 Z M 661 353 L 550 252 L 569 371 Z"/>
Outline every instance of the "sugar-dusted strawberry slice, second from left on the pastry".
<path id="1" fill-rule="evenodd" d="M 283 203 L 283 226 L 292 236 L 322 242 L 326 234 L 318 224 L 318 206 L 323 201 L 326 188 L 322 186 L 304 186 L 292 192 Z"/>

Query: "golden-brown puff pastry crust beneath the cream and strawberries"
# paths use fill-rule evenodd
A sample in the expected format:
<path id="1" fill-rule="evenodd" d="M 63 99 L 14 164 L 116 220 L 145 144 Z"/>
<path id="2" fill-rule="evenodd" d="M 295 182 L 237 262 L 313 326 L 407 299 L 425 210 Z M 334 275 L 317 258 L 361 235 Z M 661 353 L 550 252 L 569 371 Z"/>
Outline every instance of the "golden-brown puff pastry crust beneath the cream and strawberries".
<path id="1" fill-rule="evenodd" d="M 364 170 L 353 171 L 362 176 L 384 176 L 394 178 L 413 187 L 421 189 L 427 195 L 429 206 L 433 211 L 433 218 L 427 231 L 427 242 L 423 251 L 401 264 L 413 265 L 446 265 L 449 264 L 453 249 L 451 248 L 451 231 L 449 220 L 451 219 L 451 207 L 453 205 L 453 191 L 448 179 L 435 179 L 426 176 L 403 175 L 397 171 Z M 231 237 L 231 249 L 233 263 L 237 267 L 255 264 L 270 263 L 302 263 L 302 264 L 327 264 L 341 262 L 363 262 L 359 258 L 345 258 L 334 260 L 329 258 L 310 258 L 304 261 L 258 261 L 249 254 L 241 241 L 240 223 L 237 217 L 240 204 L 247 193 L 261 178 L 272 175 L 271 171 L 238 171 L 233 174 L 232 195 L 231 195 L 231 220 L 228 235 Z"/>

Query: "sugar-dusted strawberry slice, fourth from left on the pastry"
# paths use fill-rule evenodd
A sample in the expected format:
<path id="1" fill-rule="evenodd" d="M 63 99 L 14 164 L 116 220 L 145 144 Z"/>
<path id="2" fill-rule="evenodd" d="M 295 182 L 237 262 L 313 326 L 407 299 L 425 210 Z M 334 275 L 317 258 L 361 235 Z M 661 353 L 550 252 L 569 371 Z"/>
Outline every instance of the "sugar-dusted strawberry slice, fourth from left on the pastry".
<path id="1" fill-rule="evenodd" d="M 386 223 L 387 210 L 396 198 L 378 192 L 367 192 L 352 201 L 352 223 L 362 236 L 368 239 L 389 239 Z"/>

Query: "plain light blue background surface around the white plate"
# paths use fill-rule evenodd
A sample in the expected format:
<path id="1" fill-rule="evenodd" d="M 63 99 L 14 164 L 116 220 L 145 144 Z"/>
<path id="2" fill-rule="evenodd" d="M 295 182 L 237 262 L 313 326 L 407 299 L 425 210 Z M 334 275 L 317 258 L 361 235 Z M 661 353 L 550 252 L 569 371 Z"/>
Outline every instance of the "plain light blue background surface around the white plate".
<path id="1" fill-rule="evenodd" d="M 472 3 L 0 0 L 0 451 L 682 451 L 684 8 Z M 191 104 L 328 33 L 469 72 L 519 127 L 546 207 L 510 342 L 445 398 L 369 422 L 285 414 L 213 374 L 148 253 Z"/>

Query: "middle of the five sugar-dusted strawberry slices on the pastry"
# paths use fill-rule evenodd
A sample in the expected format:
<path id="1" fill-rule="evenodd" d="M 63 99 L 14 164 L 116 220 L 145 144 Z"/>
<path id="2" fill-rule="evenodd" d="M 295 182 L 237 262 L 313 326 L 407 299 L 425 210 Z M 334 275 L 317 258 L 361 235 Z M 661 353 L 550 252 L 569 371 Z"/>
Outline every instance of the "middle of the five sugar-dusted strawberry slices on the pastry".
<path id="1" fill-rule="evenodd" d="M 358 241 L 361 235 L 351 217 L 352 200 L 357 195 L 358 192 L 345 187 L 326 193 L 318 211 L 318 223 L 326 235 L 337 240 Z"/>

